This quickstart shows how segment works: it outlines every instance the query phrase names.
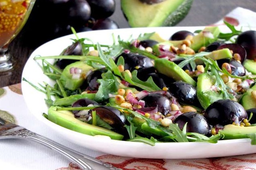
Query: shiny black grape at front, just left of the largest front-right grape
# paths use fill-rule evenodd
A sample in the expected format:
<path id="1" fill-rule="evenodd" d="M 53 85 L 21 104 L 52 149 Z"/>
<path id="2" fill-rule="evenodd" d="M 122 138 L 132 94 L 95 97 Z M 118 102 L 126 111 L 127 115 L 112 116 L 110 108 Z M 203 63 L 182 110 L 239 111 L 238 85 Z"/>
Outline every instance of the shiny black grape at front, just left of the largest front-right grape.
<path id="1" fill-rule="evenodd" d="M 181 130 L 187 123 L 186 132 L 196 132 L 204 135 L 208 135 L 211 129 L 204 116 L 196 112 L 183 113 L 174 120 L 174 123 L 177 123 Z"/>

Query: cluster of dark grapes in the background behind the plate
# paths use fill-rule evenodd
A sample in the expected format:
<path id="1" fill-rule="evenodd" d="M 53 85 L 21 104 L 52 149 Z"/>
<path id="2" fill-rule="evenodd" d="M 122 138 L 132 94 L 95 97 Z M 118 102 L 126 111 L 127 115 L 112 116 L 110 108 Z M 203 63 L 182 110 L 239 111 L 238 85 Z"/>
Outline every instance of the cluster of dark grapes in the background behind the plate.
<path id="1" fill-rule="evenodd" d="M 29 33 L 42 42 L 76 32 L 117 29 L 109 17 L 115 11 L 115 0 L 37 0 L 28 20 Z"/>

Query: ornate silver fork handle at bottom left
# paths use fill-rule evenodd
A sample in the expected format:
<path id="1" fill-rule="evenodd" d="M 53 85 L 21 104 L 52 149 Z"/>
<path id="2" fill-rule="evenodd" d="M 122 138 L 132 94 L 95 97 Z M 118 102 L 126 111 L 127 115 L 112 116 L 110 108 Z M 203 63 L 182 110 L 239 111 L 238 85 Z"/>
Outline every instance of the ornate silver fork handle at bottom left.
<path id="1" fill-rule="evenodd" d="M 35 132 L 31 132 L 26 128 L 19 129 L 18 131 L 18 134 L 11 136 L 8 135 L 8 137 L 30 139 L 32 141 L 45 145 L 55 150 L 56 152 L 59 152 L 73 163 L 76 163 L 77 166 L 79 166 L 83 170 L 121 170 L 119 168 L 112 166 L 111 164 L 99 161 L 94 157 L 90 157 L 88 155 L 82 154 L 81 152 L 77 152 L 75 150 L 67 148 L 66 146 L 61 145 L 60 143 L 57 143 L 40 134 L 36 134 Z M 92 167 L 95 167 L 95 169 Z"/>

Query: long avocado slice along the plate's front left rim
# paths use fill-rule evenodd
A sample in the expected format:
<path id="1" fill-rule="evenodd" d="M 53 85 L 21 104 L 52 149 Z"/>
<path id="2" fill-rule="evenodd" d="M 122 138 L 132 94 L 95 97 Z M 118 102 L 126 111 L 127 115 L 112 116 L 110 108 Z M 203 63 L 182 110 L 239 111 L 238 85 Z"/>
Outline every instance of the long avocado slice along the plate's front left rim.
<path id="1" fill-rule="evenodd" d="M 56 123 L 64 128 L 80 132 L 83 134 L 94 135 L 105 135 L 109 136 L 111 139 L 122 140 L 123 135 L 94 126 L 85 122 L 82 122 L 74 117 L 74 114 L 68 110 L 56 110 L 56 106 L 51 106 L 48 109 L 48 120 Z"/>

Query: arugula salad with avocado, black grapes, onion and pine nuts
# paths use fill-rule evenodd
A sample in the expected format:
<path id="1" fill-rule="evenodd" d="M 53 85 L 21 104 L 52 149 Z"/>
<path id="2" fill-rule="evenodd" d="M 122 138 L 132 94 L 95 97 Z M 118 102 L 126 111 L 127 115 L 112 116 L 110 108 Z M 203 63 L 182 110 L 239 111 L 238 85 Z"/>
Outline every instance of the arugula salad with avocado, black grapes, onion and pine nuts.
<path id="1" fill-rule="evenodd" d="M 150 145 L 254 144 L 256 63 L 247 34 L 256 39 L 255 31 L 226 25 L 230 33 L 205 27 L 164 40 L 153 32 L 112 45 L 76 36 L 59 56 L 34 58 L 54 86 L 23 80 L 46 94 L 46 119 L 84 134 Z"/>

